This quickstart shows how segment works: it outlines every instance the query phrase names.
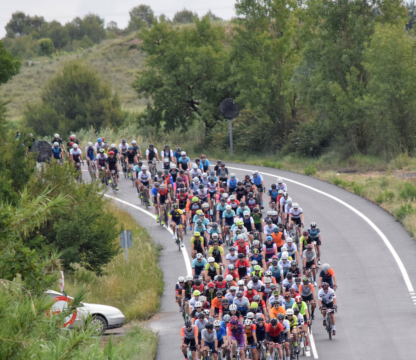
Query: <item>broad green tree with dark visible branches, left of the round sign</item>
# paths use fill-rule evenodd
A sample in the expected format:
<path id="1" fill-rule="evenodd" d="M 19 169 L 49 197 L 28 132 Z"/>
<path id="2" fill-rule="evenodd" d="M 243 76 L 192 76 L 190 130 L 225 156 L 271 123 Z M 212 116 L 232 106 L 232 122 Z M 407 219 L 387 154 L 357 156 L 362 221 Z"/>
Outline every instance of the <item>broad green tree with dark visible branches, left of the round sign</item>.
<path id="1" fill-rule="evenodd" d="M 232 92 L 224 28 L 212 27 L 208 17 L 196 20 L 194 28 L 176 30 L 155 22 L 140 37 L 148 68 L 138 73 L 133 88 L 152 99 L 146 123 L 173 129 L 198 119 L 210 128 L 223 120 L 219 104 Z"/>

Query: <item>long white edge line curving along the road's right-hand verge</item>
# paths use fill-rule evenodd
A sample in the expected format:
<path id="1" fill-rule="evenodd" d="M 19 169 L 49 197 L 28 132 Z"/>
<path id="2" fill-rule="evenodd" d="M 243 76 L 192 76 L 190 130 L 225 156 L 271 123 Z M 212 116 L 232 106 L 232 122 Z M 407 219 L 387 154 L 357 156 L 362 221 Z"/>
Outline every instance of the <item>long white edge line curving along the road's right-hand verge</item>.
<path id="1" fill-rule="evenodd" d="M 242 170 L 242 171 L 252 171 L 252 170 L 248 170 L 248 169 L 240 169 L 240 168 L 235 168 L 235 167 L 230 167 L 230 166 L 228 166 L 228 168 L 229 169 L 235 169 L 235 170 Z M 265 173 L 265 172 L 261 172 L 261 171 L 259 171 L 259 173 L 260 174 L 265 174 L 265 175 L 268 175 L 268 176 L 276 177 L 276 175 L 269 174 L 269 173 Z M 294 184 L 303 186 L 303 187 L 305 187 L 307 189 L 316 191 L 319 194 L 328 196 L 329 198 L 331 198 L 331 199 L 333 199 L 335 201 L 338 201 L 340 204 L 346 206 L 348 209 L 350 209 L 351 211 L 354 211 L 354 213 L 356 213 L 358 216 L 360 216 L 361 218 L 363 218 L 376 231 L 376 233 L 379 234 L 379 236 L 381 237 L 381 239 L 386 244 L 387 248 L 390 250 L 391 254 L 394 257 L 394 260 L 396 260 L 396 263 L 399 266 L 399 269 L 401 271 L 401 274 L 402 274 L 402 276 L 404 278 L 404 282 L 406 283 L 406 286 L 407 286 L 409 292 L 413 292 L 414 291 L 414 288 L 413 288 L 412 283 L 411 283 L 410 278 L 409 278 L 409 274 L 407 273 L 406 268 L 404 267 L 401 259 L 399 258 L 399 255 L 396 253 L 396 250 L 394 250 L 393 246 L 391 245 L 391 243 L 390 243 L 389 239 L 386 237 L 386 235 L 384 235 L 384 233 L 381 232 L 381 230 L 376 226 L 376 224 L 374 224 L 367 216 L 365 216 L 362 212 L 360 212 L 357 209 L 355 209 L 353 206 L 347 204 L 345 201 L 342 201 L 341 199 L 338 199 L 336 196 L 333 196 L 331 194 L 328 194 L 328 193 L 326 193 L 326 192 L 324 192 L 322 190 L 315 189 L 312 186 L 302 184 L 302 183 L 300 183 L 298 181 L 295 181 L 295 180 L 290 180 L 290 179 L 287 179 L 285 177 L 282 177 L 282 179 L 283 180 L 286 180 L 286 181 L 290 181 L 290 182 L 292 182 Z"/>

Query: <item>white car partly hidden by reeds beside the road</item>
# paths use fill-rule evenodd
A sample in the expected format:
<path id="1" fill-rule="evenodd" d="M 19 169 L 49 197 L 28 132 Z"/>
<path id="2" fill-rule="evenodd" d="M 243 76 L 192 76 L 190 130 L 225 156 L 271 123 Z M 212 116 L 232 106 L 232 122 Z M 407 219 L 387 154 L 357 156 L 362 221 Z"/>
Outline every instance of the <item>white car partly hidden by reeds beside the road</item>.
<path id="1" fill-rule="evenodd" d="M 54 290 L 46 290 L 45 294 L 50 296 L 50 298 L 63 296 L 62 293 L 58 293 Z M 71 297 L 68 296 L 68 298 Z M 52 308 L 52 311 L 62 311 L 65 302 L 58 301 L 56 304 L 56 308 Z M 82 303 L 82 305 L 77 307 L 77 316 L 74 322 L 69 325 L 69 328 L 77 328 L 84 325 L 90 315 L 92 317 L 91 324 L 96 325 L 97 330 L 101 334 L 104 334 L 107 329 L 121 328 L 124 326 L 125 316 L 119 309 L 108 305 Z M 68 321 L 69 318 L 70 317 L 67 317 L 65 320 Z"/>

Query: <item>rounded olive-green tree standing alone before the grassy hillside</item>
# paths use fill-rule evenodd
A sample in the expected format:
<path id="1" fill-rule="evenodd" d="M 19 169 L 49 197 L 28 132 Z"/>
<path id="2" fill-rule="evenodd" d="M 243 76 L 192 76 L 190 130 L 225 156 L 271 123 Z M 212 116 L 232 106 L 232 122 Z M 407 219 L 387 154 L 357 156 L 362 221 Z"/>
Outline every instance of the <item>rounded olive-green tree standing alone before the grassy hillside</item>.
<path id="1" fill-rule="evenodd" d="M 68 133 L 90 126 L 119 126 L 124 118 L 109 84 L 102 83 L 97 72 L 80 61 L 66 62 L 43 89 L 42 102 L 29 105 L 25 112 L 27 124 L 42 136 L 58 129 Z"/>

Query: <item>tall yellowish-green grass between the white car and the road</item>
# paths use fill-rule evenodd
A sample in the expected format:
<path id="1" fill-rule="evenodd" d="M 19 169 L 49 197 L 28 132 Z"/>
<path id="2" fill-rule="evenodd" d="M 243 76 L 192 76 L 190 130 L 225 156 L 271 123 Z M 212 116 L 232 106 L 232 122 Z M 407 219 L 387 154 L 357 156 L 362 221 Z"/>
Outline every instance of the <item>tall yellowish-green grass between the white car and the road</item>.
<path id="1" fill-rule="evenodd" d="M 66 291 L 73 294 L 77 287 L 88 285 L 86 302 L 115 306 L 126 316 L 126 321 L 145 320 L 158 312 L 163 293 L 163 274 L 158 266 L 160 249 L 129 213 L 117 209 L 114 214 L 123 228 L 131 230 L 133 247 L 129 248 L 129 263 L 126 264 L 123 251 L 107 265 L 108 275 L 97 277 L 91 271 L 78 269 L 67 276 Z M 105 219 L 102 221 L 105 226 Z"/>

